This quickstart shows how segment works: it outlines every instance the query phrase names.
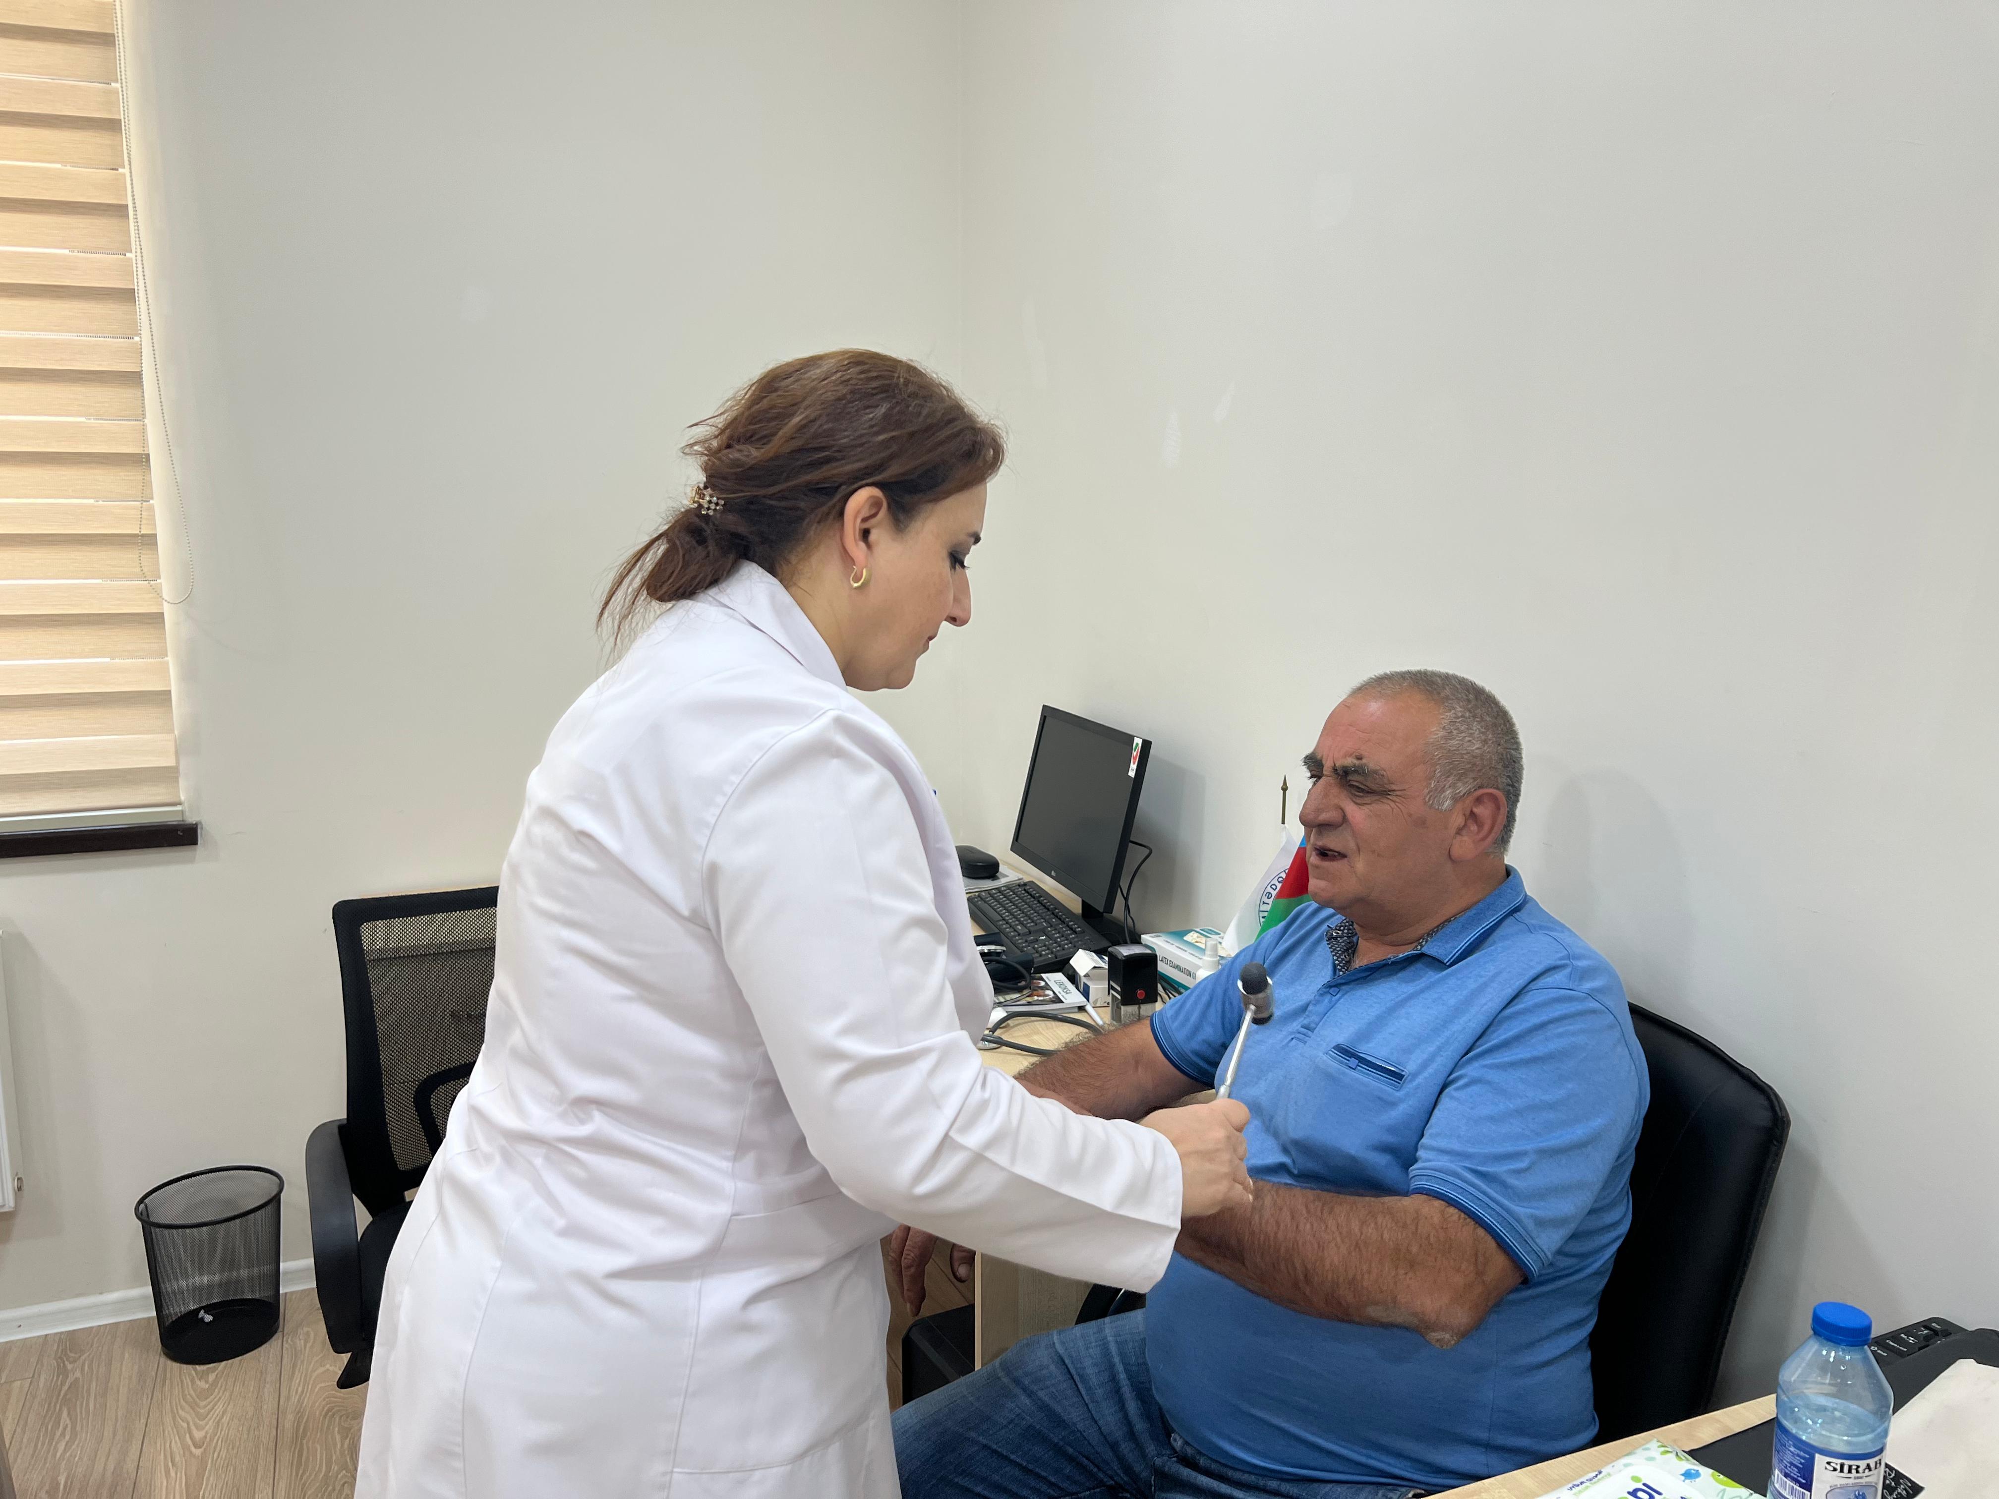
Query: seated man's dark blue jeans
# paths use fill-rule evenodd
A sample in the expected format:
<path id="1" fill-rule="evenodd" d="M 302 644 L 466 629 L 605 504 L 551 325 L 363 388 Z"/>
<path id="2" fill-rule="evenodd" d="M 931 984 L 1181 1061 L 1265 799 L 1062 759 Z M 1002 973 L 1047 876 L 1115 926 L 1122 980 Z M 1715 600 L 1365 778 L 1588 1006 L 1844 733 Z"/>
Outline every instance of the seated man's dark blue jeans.
<path id="1" fill-rule="evenodd" d="M 1145 1313 L 1015 1343 L 896 1411 L 904 1499 L 1411 1499 L 1395 1483 L 1273 1479 L 1217 1463 L 1159 1415 Z"/>

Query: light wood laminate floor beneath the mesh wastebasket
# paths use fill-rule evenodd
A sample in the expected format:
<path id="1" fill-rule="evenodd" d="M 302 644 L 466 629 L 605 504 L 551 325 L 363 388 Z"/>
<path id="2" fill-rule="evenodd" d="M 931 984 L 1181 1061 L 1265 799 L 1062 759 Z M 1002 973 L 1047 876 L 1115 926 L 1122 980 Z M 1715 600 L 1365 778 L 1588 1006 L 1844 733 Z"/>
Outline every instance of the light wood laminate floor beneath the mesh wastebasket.
<path id="1" fill-rule="evenodd" d="M 888 1399 L 902 1403 L 910 1311 L 890 1277 Z M 970 1303 L 944 1257 L 924 1311 Z M 312 1291 L 256 1353 L 194 1367 L 160 1353 L 154 1321 L 0 1343 L 0 1435 L 20 1499 L 350 1499 L 368 1387 L 336 1389 Z"/>

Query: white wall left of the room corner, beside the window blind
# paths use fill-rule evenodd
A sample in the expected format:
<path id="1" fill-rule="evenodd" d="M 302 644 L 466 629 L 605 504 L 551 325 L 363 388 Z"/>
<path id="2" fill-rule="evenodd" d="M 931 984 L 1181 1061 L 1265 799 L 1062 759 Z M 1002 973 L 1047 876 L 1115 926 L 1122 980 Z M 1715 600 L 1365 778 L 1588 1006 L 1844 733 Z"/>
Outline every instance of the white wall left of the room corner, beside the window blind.
<path id="1" fill-rule="evenodd" d="M 494 879 L 688 422 L 960 342 L 956 8 L 130 10 L 204 837 L 0 869 L 6 1307 L 142 1285 L 132 1201 L 220 1161 L 284 1171 L 310 1251 L 332 901 Z"/>

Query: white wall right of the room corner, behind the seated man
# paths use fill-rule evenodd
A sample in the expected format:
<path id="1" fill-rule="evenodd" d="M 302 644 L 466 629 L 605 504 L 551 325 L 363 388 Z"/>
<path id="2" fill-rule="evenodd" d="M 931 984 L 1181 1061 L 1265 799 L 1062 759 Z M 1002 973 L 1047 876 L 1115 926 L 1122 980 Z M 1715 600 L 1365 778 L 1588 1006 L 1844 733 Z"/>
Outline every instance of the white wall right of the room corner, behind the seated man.
<path id="1" fill-rule="evenodd" d="M 1013 464 L 884 704 L 958 833 L 1071 708 L 1157 740 L 1141 917 L 1225 919 L 1343 688 L 1467 672 L 1529 889 L 1791 1105 L 1725 1393 L 1819 1297 L 1999 1321 L 1999 12 L 970 14 Z"/>

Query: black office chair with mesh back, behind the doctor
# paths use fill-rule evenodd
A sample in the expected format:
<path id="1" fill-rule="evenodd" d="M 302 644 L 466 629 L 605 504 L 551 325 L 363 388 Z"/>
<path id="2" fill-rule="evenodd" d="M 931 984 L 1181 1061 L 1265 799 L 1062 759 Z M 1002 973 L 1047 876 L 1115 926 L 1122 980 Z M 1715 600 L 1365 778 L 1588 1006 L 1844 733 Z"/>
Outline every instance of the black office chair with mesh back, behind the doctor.
<path id="1" fill-rule="evenodd" d="M 306 1141 L 312 1269 L 340 1387 L 368 1379 L 388 1251 L 486 1039 L 498 885 L 334 905 L 348 1117 Z M 354 1199 L 368 1209 L 354 1231 Z"/>

